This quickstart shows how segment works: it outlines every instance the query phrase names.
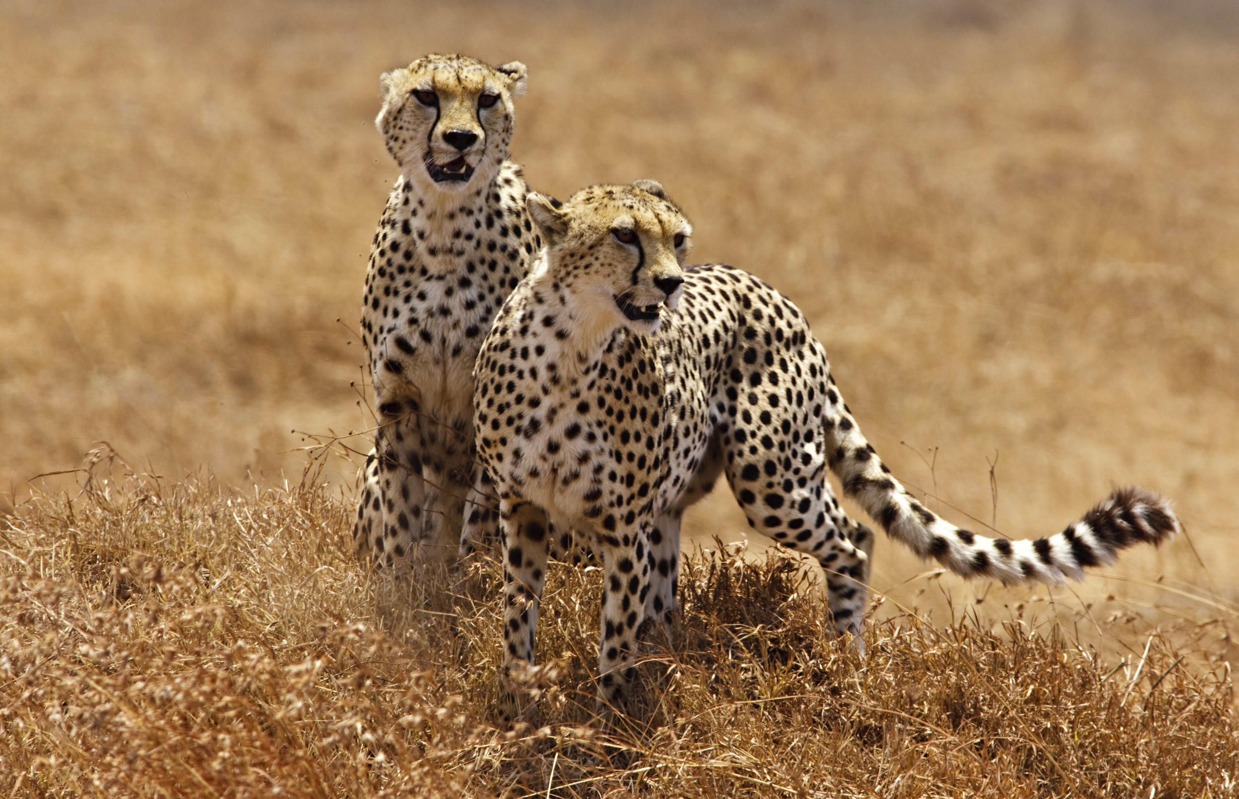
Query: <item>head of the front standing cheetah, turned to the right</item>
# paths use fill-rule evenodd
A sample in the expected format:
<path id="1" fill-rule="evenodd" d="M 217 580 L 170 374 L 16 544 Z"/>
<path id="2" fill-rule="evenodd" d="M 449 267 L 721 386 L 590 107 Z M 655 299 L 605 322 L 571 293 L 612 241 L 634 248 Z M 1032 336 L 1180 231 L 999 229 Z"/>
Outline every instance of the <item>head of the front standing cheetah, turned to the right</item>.
<path id="1" fill-rule="evenodd" d="M 693 226 L 659 183 L 595 186 L 566 203 L 530 192 L 525 202 L 546 273 L 582 315 L 648 334 L 675 309 Z"/>

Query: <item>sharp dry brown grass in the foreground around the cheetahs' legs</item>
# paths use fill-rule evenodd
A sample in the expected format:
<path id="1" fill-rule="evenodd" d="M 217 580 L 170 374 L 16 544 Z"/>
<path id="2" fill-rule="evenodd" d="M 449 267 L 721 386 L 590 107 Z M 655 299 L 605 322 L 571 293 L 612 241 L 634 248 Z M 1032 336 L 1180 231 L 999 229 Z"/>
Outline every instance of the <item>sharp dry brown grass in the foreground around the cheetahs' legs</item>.
<path id="1" fill-rule="evenodd" d="M 794 562 L 698 553 L 632 719 L 595 722 L 598 571 L 553 566 L 536 728 L 487 721 L 502 620 L 372 581 L 321 485 L 105 481 L 0 529 L 0 794 L 1237 797 L 1227 664 L 1011 617 L 897 615 L 855 656 Z M 403 599 L 401 599 L 403 596 Z M 394 600 L 394 601 L 393 601 Z"/>

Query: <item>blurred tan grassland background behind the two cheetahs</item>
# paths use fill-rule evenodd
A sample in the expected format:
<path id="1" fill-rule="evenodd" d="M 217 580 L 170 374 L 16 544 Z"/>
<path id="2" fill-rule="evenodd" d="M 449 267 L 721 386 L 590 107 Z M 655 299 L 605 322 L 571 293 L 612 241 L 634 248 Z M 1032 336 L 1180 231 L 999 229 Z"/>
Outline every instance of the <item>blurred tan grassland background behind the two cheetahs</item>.
<path id="1" fill-rule="evenodd" d="M 1170 5 L 6 0 L 0 510 L 71 490 L 31 480 L 100 440 L 245 487 L 300 479 L 305 433 L 368 429 L 378 77 L 463 52 L 528 64 L 534 188 L 655 178 L 693 260 L 790 296 L 934 510 L 1031 537 L 1139 484 L 1191 533 L 1054 592 L 880 540 L 891 600 L 1233 617 L 1239 11 Z M 325 474 L 351 495 L 356 464 Z M 725 487 L 688 529 L 745 537 Z"/>

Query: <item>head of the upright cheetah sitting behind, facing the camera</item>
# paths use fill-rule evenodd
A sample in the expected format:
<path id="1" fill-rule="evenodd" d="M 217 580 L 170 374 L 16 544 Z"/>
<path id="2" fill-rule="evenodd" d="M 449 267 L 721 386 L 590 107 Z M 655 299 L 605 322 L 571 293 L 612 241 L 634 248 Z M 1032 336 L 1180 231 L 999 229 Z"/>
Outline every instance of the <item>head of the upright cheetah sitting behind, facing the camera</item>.
<path id="1" fill-rule="evenodd" d="M 431 54 L 379 79 L 374 120 L 405 181 L 424 195 L 479 190 L 508 157 L 512 98 L 525 66 L 489 67 L 468 56 Z"/>

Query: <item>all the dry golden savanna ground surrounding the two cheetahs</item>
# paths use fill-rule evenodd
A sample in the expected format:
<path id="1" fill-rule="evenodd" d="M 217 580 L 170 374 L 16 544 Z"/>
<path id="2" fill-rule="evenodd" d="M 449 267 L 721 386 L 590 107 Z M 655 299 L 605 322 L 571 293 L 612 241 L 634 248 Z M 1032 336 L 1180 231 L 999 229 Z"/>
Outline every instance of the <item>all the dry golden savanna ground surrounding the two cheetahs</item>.
<path id="1" fill-rule="evenodd" d="M 4 4 L 0 793 L 1239 794 L 1237 42 L 1199 0 Z M 1030 537 L 1131 482 L 1189 537 L 1053 591 L 880 540 L 861 658 L 711 543 L 724 491 L 632 726 L 556 569 L 541 726 L 489 728 L 491 566 L 366 575 L 356 464 L 297 450 L 370 424 L 377 78 L 430 51 L 529 66 L 533 187 L 657 178 L 789 294 L 935 510 Z"/>

